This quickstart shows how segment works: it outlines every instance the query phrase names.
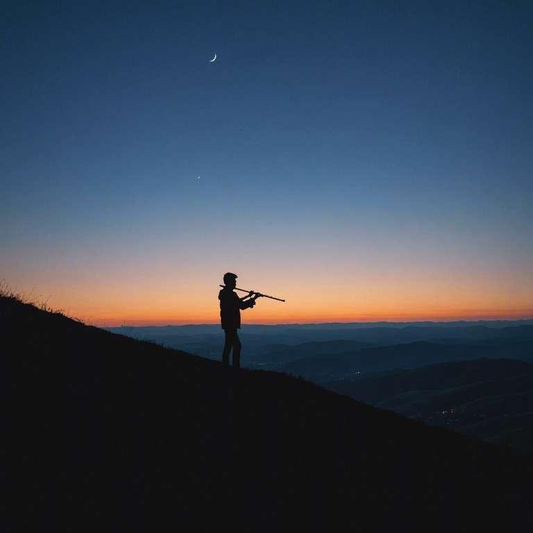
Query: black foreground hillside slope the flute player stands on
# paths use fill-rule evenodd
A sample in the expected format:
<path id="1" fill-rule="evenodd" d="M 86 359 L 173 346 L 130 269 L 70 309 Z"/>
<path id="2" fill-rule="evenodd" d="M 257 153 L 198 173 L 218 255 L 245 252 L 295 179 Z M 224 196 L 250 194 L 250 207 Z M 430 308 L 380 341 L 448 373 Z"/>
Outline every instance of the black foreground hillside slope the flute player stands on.
<path id="1" fill-rule="evenodd" d="M 11 298 L 0 324 L 5 531 L 532 525 L 525 457 Z"/>

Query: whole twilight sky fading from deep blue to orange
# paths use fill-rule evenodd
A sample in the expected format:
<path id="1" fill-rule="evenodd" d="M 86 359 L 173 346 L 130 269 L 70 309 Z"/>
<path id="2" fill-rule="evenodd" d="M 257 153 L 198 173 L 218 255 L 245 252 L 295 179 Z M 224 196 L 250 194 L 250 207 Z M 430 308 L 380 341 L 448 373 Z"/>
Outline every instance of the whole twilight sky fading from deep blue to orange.
<path id="1" fill-rule="evenodd" d="M 226 271 L 287 299 L 245 323 L 533 318 L 532 95 L 531 1 L 4 1 L 0 279 L 97 325 L 216 322 Z"/>

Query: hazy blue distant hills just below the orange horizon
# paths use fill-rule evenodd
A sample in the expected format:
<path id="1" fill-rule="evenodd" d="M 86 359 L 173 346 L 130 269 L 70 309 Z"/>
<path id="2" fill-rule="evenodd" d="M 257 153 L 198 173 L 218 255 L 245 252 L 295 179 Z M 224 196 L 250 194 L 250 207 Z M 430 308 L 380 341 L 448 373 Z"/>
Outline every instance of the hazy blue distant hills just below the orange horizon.
<path id="1" fill-rule="evenodd" d="M 484 325 L 480 325 L 480 324 Z M 369 324 L 291 324 L 291 325 L 243 325 L 239 336 L 244 346 L 242 358 L 244 363 L 257 364 L 267 367 L 270 364 L 285 364 L 289 362 L 289 352 L 281 354 L 276 361 L 276 353 L 288 350 L 296 345 L 307 343 L 325 343 L 327 341 L 354 341 L 357 344 L 346 345 L 346 350 L 369 346 L 391 346 L 394 344 L 409 344 L 414 341 L 434 341 L 437 344 L 479 344 L 481 346 L 499 346 L 500 357 L 513 357 L 511 353 L 502 350 L 514 343 L 512 350 L 531 353 L 533 346 L 533 321 L 481 321 L 450 322 L 450 323 L 414 323 L 399 324 L 386 323 L 386 327 L 373 323 Z M 489 325 L 490 324 L 490 325 Z M 220 359 L 223 344 L 223 332 L 219 325 L 168 325 L 168 326 L 122 326 L 121 328 L 107 328 L 111 332 L 128 335 L 135 339 L 151 339 L 170 348 L 188 350 L 196 355 L 210 359 Z M 529 343 L 529 344 L 527 344 Z M 527 346 L 525 346 L 527 344 Z M 320 352 L 338 353 L 337 345 L 322 344 L 320 351 L 304 353 L 303 348 L 296 348 L 291 360 L 305 355 L 318 355 Z M 312 349 L 311 346 L 307 348 Z"/>

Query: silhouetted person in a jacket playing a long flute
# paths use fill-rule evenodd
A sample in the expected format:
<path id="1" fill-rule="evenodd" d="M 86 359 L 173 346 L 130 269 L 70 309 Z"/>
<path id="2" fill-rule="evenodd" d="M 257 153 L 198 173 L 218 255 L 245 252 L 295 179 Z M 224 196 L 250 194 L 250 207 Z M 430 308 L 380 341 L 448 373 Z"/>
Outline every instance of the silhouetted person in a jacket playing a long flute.
<path id="1" fill-rule="evenodd" d="M 219 292 L 220 300 L 220 321 L 222 329 L 226 333 L 224 341 L 224 350 L 222 352 L 223 364 L 230 364 L 230 351 L 233 348 L 233 366 L 238 369 L 241 366 L 241 341 L 237 330 L 241 328 L 241 310 L 253 307 L 259 297 L 253 296 L 253 291 L 244 298 L 239 298 L 233 289 L 237 286 L 237 275 L 228 272 L 224 274 L 224 287 Z M 247 299 L 249 298 L 249 299 Z M 245 301 L 246 300 L 246 301 Z"/>

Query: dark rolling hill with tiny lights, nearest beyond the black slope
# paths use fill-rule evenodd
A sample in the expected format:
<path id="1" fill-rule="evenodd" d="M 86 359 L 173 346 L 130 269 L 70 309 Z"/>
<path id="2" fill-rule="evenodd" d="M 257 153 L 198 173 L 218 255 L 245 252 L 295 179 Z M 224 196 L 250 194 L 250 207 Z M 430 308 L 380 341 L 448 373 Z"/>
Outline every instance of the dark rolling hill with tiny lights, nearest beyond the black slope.
<path id="1" fill-rule="evenodd" d="M 326 386 L 409 418 L 533 452 L 533 365 L 523 361 L 452 361 Z"/>

